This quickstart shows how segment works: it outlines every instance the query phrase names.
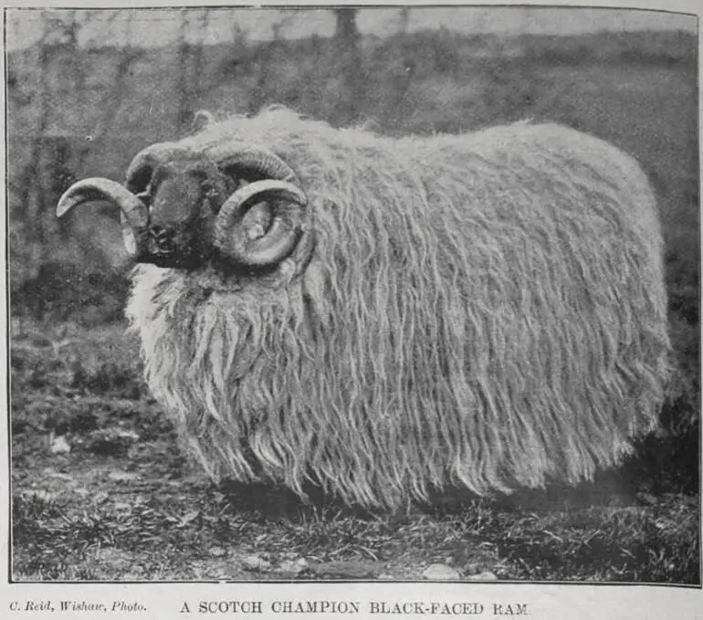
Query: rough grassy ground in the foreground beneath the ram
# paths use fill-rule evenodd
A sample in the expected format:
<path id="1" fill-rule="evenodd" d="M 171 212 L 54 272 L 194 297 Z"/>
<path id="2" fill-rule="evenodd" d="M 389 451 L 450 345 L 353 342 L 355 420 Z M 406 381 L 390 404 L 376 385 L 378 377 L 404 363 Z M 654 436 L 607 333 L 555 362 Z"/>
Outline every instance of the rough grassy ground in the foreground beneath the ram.
<path id="1" fill-rule="evenodd" d="M 695 495 L 637 494 L 614 474 L 609 489 L 456 492 L 372 515 L 215 486 L 181 457 L 121 324 L 13 330 L 16 581 L 416 580 L 442 563 L 459 579 L 700 583 Z"/>

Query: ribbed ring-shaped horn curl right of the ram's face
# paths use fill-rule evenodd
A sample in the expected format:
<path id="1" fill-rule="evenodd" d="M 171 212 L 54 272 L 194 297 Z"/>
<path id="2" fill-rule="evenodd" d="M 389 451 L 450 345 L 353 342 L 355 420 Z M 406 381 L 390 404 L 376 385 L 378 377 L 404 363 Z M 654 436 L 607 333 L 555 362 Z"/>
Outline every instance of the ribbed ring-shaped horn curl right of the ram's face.
<path id="1" fill-rule="evenodd" d="M 266 235 L 251 239 L 242 222 L 249 208 L 262 200 L 271 205 L 271 226 Z M 285 181 L 266 179 L 245 185 L 226 200 L 217 215 L 215 247 L 240 265 L 275 265 L 298 245 L 307 203 L 305 194 Z"/>

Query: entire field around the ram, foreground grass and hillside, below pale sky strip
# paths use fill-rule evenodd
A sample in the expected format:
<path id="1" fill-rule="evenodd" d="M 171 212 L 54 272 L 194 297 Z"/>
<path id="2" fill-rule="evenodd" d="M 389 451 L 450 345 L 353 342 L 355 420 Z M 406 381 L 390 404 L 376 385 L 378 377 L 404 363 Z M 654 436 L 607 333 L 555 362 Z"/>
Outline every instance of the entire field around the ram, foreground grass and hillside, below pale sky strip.
<path id="1" fill-rule="evenodd" d="M 9 56 L 16 578 L 417 578 L 441 562 L 460 578 L 699 583 L 695 37 L 421 32 L 340 49 L 47 42 Z M 194 110 L 270 103 L 391 134 L 561 121 L 635 155 L 660 201 L 678 369 L 639 457 L 574 493 L 455 498 L 381 520 L 294 499 L 278 509 L 279 489 L 253 499 L 187 468 L 122 336 L 116 214 L 59 226 L 53 211 L 73 180 L 120 180 L 136 151 L 184 135 Z"/>

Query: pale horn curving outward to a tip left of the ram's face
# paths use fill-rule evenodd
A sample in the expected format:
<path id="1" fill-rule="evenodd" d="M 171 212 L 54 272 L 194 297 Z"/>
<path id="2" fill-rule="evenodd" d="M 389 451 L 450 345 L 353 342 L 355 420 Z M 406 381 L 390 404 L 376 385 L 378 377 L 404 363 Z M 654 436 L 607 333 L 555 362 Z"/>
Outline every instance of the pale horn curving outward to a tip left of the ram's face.
<path id="1" fill-rule="evenodd" d="M 63 217 L 72 208 L 94 200 L 107 200 L 120 207 L 124 246 L 131 255 L 142 255 L 149 214 L 142 201 L 119 183 L 90 178 L 72 184 L 58 200 L 57 216 Z"/>

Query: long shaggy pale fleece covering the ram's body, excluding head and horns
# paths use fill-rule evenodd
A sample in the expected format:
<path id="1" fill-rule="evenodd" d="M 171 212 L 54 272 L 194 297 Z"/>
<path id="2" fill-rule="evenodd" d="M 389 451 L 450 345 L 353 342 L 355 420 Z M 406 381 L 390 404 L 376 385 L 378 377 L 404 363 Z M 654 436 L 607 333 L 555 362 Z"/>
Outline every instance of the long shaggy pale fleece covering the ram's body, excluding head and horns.
<path id="1" fill-rule="evenodd" d="M 624 152 L 551 124 L 396 140 L 280 109 L 184 143 L 233 141 L 298 174 L 310 264 L 142 265 L 128 309 L 153 394 L 213 478 L 395 508 L 577 483 L 656 426 L 662 239 Z"/>

